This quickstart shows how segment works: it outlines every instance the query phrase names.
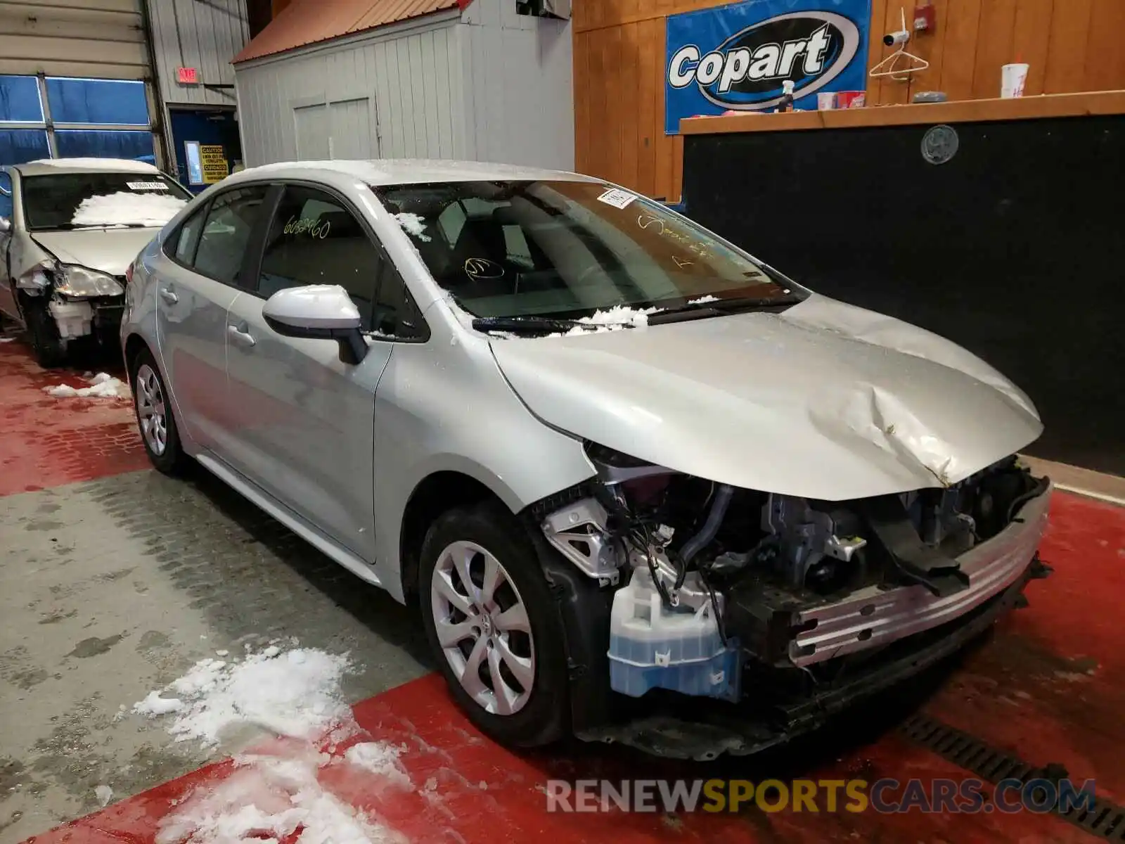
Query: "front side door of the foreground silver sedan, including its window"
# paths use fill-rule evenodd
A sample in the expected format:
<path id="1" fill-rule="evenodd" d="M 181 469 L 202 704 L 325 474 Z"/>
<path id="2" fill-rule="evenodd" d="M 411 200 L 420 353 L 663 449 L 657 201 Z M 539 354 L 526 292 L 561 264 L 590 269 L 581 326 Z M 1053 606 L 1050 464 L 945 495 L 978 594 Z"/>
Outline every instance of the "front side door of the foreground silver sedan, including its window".
<path id="1" fill-rule="evenodd" d="M 366 226 L 326 191 L 288 186 L 267 232 L 256 289 L 227 314 L 227 399 L 238 424 L 226 459 L 352 554 L 374 560 L 375 388 L 392 343 L 359 365 L 333 340 L 286 338 L 262 317 L 278 290 L 342 285 L 370 327 L 388 266 Z"/>

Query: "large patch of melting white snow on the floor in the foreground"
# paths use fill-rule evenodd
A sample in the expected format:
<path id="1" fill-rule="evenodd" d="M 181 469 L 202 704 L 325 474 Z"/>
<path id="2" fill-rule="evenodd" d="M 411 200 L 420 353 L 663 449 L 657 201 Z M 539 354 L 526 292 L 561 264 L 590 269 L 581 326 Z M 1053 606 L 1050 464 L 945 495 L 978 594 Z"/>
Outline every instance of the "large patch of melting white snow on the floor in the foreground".
<path id="1" fill-rule="evenodd" d="M 169 716 L 178 740 L 222 744 L 224 733 L 253 724 L 287 738 L 235 756 L 230 776 L 200 785 L 163 817 L 156 844 L 406 844 L 405 837 L 341 800 L 322 784 L 333 766 L 361 769 L 371 788 L 412 788 L 399 762 L 405 747 L 368 737 L 343 700 L 346 655 L 271 646 L 243 659 L 201 659 L 179 680 L 134 704 Z M 343 745 L 352 743 L 346 749 Z M 354 779 L 354 774 L 349 779 Z M 296 837 L 294 837 L 296 836 Z"/>

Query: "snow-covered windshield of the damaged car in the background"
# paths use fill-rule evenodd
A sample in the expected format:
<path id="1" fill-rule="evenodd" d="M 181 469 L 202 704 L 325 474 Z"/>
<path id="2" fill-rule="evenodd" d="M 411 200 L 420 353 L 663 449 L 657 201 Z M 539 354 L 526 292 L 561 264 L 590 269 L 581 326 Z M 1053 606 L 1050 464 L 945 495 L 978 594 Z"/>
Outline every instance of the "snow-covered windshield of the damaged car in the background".
<path id="1" fill-rule="evenodd" d="M 160 227 L 191 195 L 163 173 L 25 176 L 19 183 L 28 231 L 84 226 Z"/>

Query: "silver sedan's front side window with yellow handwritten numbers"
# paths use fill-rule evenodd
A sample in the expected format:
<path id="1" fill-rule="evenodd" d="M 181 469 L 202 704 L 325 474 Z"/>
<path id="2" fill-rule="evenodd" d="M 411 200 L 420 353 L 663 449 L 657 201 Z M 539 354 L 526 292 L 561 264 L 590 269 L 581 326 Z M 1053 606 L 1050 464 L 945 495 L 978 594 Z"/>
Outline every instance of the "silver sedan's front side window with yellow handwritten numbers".
<path id="1" fill-rule="evenodd" d="M 379 250 L 343 204 L 330 194 L 292 186 L 266 237 L 258 293 L 269 298 L 287 287 L 340 285 L 370 325 L 382 268 Z"/>

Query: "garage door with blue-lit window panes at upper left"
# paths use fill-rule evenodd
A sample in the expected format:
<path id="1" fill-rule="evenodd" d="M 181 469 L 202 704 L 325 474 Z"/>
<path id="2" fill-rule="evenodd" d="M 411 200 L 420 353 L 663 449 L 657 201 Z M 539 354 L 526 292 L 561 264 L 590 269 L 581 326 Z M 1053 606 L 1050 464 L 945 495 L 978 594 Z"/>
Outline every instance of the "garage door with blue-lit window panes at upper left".
<path id="1" fill-rule="evenodd" d="M 154 160 L 141 0 L 0 0 L 0 164 Z"/>

